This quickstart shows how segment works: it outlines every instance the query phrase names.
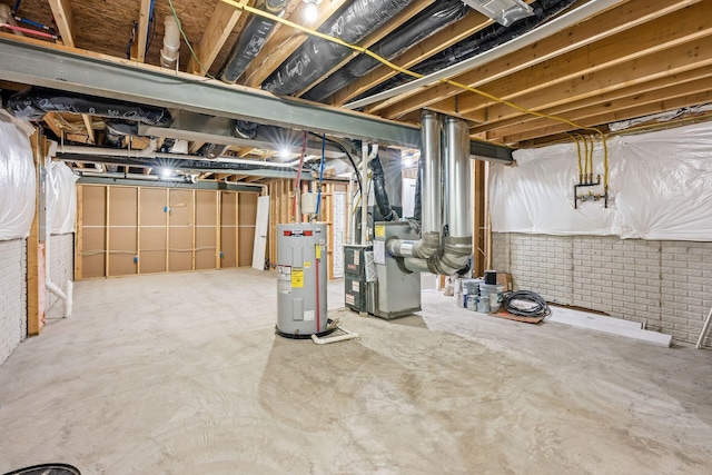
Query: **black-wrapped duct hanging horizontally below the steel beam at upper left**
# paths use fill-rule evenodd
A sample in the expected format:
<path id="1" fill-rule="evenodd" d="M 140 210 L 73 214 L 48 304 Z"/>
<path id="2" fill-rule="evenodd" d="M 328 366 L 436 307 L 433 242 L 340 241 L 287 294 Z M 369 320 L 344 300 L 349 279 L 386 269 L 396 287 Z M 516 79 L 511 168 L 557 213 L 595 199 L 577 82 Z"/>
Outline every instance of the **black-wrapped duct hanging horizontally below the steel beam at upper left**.
<path id="1" fill-rule="evenodd" d="M 22 120 L 42 120 L 47 112 L 89 113 L 110 119 L 132 120 L 149 126 L 168 127 L 172 117 L 162 107 L 144 106 L 95 96 L 32 87 L 8 99 L 6 109 Z"/>

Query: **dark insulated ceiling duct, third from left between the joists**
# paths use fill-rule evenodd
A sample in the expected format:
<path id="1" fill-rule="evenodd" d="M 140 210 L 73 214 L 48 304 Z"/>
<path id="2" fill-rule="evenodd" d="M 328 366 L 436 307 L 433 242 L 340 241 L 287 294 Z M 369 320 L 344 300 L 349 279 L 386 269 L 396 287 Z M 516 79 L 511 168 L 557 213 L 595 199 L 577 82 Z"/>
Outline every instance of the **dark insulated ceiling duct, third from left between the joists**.
<path id="1" fill-rule="evenodd" d="M 464 18 L 468 11 L 469 7 L 464 4 L 462 0 L 435 2 L 369 49 L 386 59 L 396 58 L 408 48 Z M 324 100 L 357 78 L 366 76 L 378 66 L 380 66 L 378 60 L 367 55 L 359 55 L 345 68 L 315 86 L 305 97 L 309 100 Z"/>

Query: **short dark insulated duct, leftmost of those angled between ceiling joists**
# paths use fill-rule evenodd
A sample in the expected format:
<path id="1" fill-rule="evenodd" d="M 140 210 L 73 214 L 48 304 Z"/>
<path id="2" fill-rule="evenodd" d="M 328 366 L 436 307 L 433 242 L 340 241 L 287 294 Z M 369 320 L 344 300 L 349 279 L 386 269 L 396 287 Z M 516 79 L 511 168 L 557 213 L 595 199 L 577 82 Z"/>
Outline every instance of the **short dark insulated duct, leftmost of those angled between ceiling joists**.
<path id="1" fill-rule="evenodd" d="M 287 0 L 265 0 L 259 7 L 260 10 L 279 16 L 285 9 Z M 267 37 L 275 28 L 275 22 L 263 17 L 253 17 L 245 27 L 239 41 L 230 50 L 228 60 L 220 72 L 220 79 L 228 83 L 235 83 L 249 63 L 265 46 Z"/>

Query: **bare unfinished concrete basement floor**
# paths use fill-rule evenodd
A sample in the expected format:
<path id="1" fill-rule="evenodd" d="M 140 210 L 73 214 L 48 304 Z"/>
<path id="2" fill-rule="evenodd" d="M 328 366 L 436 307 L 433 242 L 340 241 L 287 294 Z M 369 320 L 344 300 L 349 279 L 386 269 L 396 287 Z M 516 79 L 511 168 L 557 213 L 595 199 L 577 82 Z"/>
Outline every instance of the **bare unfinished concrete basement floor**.
<path id="1" fill-rule="evenodd" d="M 342 283 L 329 307 L 340 307 Z M 712 464 L 712 352 L 458 309 L 333 310 L 360 340 L 274 335 L 251 269 L 80 281 L 0 366 L 0 473 L 681 474 Z"/>

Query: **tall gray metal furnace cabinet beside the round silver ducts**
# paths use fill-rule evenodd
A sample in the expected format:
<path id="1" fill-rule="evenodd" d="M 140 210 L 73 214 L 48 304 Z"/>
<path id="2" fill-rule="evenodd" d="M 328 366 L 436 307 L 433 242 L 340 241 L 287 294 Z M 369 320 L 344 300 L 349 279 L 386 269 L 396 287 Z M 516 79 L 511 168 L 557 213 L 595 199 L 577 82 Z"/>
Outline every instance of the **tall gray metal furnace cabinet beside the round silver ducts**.
<path id="1" fill-rule="evenodd" d="M 396 318 L 421 310 L 421 273 L 412 273 L 386 250 L 388 239 L 418 240 L 417 231 L 407 221 L 380 221 L 374 226 L 374 261 L 376 295 L 373 314 Z"/>

